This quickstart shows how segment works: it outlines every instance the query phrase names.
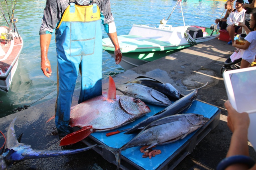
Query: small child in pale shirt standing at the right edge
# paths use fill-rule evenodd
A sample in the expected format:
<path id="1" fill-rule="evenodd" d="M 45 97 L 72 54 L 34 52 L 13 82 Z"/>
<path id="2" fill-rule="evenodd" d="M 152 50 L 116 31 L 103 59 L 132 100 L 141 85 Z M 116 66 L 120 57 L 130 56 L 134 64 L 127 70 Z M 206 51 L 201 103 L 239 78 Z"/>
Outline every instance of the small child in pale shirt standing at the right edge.
<path id="1" fill-rule="evenodd" d="M 250 28 L 252 28 L 253 31 L 250 31 L 245 24 L 239 22 L 239 26 L 243 27 L 247 33 L 247 36 L 244 38 L 246 40 L 245 44 L 239 45 L 236 44 L 236 41 L 233 44 L 234 47 L 242 50 L 240 50 L 242 56 L 241 68 L 249 67 L 250 64 L 255 60 L 256 55 L 256 13 L 252 14 L 249 23 Z"/>

